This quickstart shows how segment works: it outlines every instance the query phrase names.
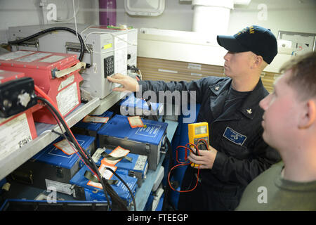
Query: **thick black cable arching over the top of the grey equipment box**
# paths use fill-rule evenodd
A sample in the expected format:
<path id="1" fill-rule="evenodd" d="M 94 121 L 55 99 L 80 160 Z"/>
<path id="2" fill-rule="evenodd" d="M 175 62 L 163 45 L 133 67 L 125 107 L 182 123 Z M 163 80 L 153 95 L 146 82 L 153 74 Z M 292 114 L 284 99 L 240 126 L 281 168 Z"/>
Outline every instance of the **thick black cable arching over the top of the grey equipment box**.
<path id="1" fill-rule="evenodd" d="M 34 37 L 38 37 L 40 35 L 46 34 L 48 32 L 53 32 L 55 30 L 65 30 L 67 32 L 71 32 L 71 33 L 77 35 L 77 37 L 80 41 L 80 55 L 79 55 L 78 59 L 79 59 L 79 61 L 82 61 L 82 58 L 84 58 L 84 39 L 82 39 L 81 35 L 78 32 L 76 32 L 75 30 L 72 30 L 69 27 L 51 27 L 51 28 L 48 28 L 46 30 L 42 30 L 40 32 L 37 32 L 36 34 L 32 34 L 29 37 L 25 37 L 23 39 L 19 39 L 19 40 L 15 40 L 15 41 L 8 41 L 8 44 L 20 44 L 22 42 L 33 39 Z"/>

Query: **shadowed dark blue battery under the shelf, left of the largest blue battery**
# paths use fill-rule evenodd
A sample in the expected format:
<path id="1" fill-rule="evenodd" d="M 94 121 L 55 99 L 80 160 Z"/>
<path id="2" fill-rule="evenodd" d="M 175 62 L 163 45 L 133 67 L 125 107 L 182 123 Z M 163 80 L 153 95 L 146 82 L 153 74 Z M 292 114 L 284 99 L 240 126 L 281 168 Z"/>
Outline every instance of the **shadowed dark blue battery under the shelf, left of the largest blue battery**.
<path id="1" fill-rule="evenodd" d="M 109 117 L 109 120 L 111 119 L 113 113 L 111 111 L 105 111 L 105 113 L 101 115 L 91 115 L 96 117 Z M 74 134 L 84 134 L 88 136 L 95 137 L 95 146 L 96 148 L 99 148 L 99 138 L 98 138 L 98 130 L 104 125 L 104 123 L 101 122 L 84 122 L 84 119 L 77 122 L 77 124 L 74 124 L 72 127 L 72 131 Z M 91 152 L 93 154 L 94 152 Z"/>

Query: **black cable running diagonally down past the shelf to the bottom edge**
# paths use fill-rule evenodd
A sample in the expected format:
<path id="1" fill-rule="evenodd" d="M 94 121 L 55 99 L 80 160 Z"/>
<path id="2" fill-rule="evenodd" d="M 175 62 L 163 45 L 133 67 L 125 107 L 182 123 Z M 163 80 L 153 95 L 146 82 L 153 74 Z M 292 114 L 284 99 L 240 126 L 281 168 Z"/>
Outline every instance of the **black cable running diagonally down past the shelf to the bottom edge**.
<path id="1" fill-rule="evenodd" d="M 53 107 L 53 105 L 51 105 L 51 103 L 46 100 L 46 98 L 38 97 L 38 99 L 43 101 L 44 103 L 46 103 L 46 105 L 48 105 L 48 107 L 50 107 L 53 110 L 55 115 L 58 117 L 58 120 L 60 120 L 63 127 L 66 129 L 67 134 L 70 136 L 70 141 L 72 141 L 72 143 L 74 143 L 74 145 L 76 146 L 76 148 L 78 150 L 81 149 L 83 151 L 83 153 L 81 153 L 81 151 L 79 151 L 79 154 L 81 155 L 81 158 L 86 162 L 86 164 L 89 165 L 89 167 L 91 167 L 91 169 L 93 169 L 93 171 L 98 176 L 100 184 L 103 186 L 103 191 L 105 192 L 105 196 L 107 197 L 107 193 L 109 193 L 110 196 L 112 197 L 111 198 L 112 202 L 117 203 L 118 207 L 121 210 L 127 211 L 128 209 L 127 209 L 126 205 L 124 204 L 123 200 L 121 200 L 119 195 L 117 195 L 117 193 L 113 190 L 112 186 L 110 186 L 110 184 L 108 184 L 106 179 L 104 179 L 100 175 L 100 172 L 98 171 L 98 167 L 96 166 L 96 163 L 92 160 L 91 156 L 88 155 L 88 153 L 86 153 L 86 150 L 84 150 L 84 148 L 80 148 L 80 146 L 77 144 L 77 141 L 75 141 L 74 137 L 72 136 L 72 132 L 70 131 L 70 129 L 68 129 L 67 124 L 65 124 L 65 121 L 62 119 L 62 116 L 58 113 L 58 110 L 56 110 Z M 107 201 L 110 205 L 110 200 L 107 199 Z"/>

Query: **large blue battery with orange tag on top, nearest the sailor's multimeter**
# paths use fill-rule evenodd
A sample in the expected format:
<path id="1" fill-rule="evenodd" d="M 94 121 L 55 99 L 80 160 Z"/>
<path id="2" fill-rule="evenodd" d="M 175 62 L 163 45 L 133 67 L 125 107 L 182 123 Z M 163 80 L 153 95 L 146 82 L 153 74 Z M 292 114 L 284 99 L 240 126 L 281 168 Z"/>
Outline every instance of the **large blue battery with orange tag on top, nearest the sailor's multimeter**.
<path id="1" fill-rule="evenodd" d="M 115 115 L 99 131 L 100 148 L 121 146 L 131 153 L 147 155 L 149 169 L 157 169 L 160 150 L 165 147 L 166 122 L 143 120 L 145 127 L 131 128 L 128 117 Z"/>

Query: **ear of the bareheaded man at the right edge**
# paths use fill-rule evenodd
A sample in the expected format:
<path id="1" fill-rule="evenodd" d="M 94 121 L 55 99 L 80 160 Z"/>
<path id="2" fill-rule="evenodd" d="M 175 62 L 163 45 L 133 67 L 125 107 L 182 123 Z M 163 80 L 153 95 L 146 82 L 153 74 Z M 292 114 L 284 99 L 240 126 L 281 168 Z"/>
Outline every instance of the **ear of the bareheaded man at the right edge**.
<path id="1" fill-rule="evenodd" d="M 316 122 L 316 101 L 310 99 L 305 102 L 302 110 L 302 115 L 298 122 L 298 128 L 307 129 Z"/>

